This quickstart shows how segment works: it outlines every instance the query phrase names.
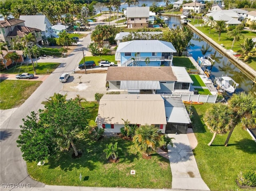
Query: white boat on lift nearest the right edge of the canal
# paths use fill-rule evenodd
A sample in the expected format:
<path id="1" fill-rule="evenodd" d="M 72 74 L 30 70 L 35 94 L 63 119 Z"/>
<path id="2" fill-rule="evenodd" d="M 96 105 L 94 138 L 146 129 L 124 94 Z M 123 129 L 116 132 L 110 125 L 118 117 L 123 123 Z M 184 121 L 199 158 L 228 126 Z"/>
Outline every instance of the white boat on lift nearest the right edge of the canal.
<path id="1" fill-rule="evenodd" d="M 214 85 L 217 86 L 217 89 L 222 89 L 228 93 L 234 93 L 236 87 L 239 86 L 238 83 L 228 76 L 215 77 Z"/>

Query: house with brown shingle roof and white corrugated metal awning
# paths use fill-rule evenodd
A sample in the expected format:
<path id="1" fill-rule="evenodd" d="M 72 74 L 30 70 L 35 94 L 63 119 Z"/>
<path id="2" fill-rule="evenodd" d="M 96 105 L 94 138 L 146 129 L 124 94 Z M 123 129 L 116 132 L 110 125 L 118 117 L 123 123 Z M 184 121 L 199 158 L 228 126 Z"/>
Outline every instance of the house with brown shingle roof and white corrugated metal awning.
<path id="1" fill-rule="evenodd" d="M 110 67 L 109 91 L 126 94 L 194 94 L 185 67 Z"/>

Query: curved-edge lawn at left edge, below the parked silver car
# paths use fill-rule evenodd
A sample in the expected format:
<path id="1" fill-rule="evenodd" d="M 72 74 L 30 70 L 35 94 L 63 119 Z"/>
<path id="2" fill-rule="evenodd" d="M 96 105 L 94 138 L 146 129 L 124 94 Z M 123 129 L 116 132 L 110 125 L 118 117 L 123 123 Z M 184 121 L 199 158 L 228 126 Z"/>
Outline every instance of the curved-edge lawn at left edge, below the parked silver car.
<path id="1" fill-rule="evenodd" d="M 41 81 L 0 81 L 0 109 L 10 109 L 23 104 L 40 86 Z"/>

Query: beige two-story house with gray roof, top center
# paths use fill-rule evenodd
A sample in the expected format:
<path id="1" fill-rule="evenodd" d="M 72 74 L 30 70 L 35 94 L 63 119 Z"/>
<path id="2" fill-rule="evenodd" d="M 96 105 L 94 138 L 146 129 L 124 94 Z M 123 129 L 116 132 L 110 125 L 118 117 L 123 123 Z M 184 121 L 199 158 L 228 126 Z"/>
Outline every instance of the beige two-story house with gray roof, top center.
<path id="1" fill-rule="evenodd" d="M 148 27 L 149 7 L 127 7 L 126 18 L 128 28 Z"/>

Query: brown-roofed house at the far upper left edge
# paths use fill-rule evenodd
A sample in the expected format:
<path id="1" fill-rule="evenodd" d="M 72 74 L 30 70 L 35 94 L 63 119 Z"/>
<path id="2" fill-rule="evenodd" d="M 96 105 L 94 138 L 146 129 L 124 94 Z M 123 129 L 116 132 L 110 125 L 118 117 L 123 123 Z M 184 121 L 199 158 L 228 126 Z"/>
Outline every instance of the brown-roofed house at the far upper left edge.
<path id="1" fill-rule="evenodd" d="M 42 44 L 42 33 L 38 28 L 26 27 L 24 20 L 8 19 L 0 21 L 0 40 L 10 45 L 10 40 L 17 35 L 22 38 L 24 34 L 32 33 L 36 37 L 36 42 Z"/>

